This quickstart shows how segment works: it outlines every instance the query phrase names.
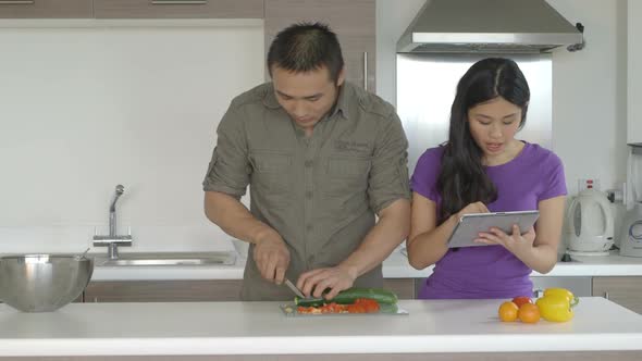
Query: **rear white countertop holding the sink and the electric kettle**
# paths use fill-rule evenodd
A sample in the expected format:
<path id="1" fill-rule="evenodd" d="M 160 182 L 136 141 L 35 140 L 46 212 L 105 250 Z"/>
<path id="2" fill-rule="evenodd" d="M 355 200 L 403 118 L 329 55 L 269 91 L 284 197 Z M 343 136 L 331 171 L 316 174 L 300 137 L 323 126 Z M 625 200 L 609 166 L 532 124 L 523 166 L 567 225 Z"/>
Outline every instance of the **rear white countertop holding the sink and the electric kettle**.
<path id="1" fill-rule="evenodd" d="M 547 274 L 533 272 L 532 276 L 642 276 L 642 258 L 576 257 L 573 262 L 558 262 Z M 126 279 L 242 279 L 245 260 L 237 258 L 234 265 L 197 266 L 97 266 L 92 281 Z M 385 278 L 423 278 L 432 273 L 432 266 L 415 270 L 399 251 L 383 262 Z"/>

